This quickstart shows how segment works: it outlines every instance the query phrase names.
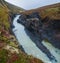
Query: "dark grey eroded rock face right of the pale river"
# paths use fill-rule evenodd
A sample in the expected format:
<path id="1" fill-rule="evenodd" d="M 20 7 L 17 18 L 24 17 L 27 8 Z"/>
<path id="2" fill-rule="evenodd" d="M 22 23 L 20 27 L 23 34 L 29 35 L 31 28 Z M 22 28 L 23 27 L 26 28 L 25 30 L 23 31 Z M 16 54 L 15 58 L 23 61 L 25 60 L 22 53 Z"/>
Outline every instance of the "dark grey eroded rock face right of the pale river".
<path id="1" fill-rule="evenodd" d="M 41 19 L 39 13 L 30 15 L 21 15 L 18 23 L 23 24 L 40 42 L 47 39 L 52 45 L 60 49 L 60 20 L 54 20 L 46 17 Z"/>

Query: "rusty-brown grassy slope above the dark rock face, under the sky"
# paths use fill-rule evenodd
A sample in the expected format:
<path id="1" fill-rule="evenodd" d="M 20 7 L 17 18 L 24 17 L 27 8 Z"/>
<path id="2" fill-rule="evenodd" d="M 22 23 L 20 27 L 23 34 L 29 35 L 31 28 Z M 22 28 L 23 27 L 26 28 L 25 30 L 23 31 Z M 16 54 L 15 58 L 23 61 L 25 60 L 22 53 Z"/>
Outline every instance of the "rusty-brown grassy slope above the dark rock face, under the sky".
<path id="1" fill-rule="evenodd" d="M 42 19 L 44 19 L 46 16 L 52 19 L 60 19 L 60 3 L 27 10 L 23 14 L 31 14 L 32 12 L 39 12 Z"/>

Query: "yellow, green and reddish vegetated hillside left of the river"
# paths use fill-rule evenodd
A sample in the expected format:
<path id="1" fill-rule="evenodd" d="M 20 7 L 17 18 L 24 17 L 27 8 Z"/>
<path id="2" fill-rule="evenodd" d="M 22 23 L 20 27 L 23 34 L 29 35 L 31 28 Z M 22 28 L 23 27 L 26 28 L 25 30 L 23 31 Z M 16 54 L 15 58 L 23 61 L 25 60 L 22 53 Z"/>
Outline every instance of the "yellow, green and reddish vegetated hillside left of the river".
<path id="1" fill-rule="evenodd" d="M 17 13 L 21 9 L 5 4 L 0 0 L 0 63 L 43 63 L 41 60 L 28 56 L 19 49 L 16 38 L 10 34 L 10 12 Z M 15 11 L 15 9 L 17 9 Z"/>

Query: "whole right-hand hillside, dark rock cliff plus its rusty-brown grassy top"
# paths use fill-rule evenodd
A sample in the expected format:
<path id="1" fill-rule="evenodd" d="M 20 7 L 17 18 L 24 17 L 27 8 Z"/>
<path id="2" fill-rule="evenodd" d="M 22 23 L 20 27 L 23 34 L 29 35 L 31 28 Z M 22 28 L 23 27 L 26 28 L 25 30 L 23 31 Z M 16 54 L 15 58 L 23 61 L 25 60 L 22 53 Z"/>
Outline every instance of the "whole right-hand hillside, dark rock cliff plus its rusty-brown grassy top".
<path id="1" fill-rule="evenodd" d="M 60 49 L 60 4 L 23 12 L 18 23 L 22 23 L 40 40 L 47 40 Z M 43 7 L 44 8 L 44 7 Z M 44 18 L 43 18 L 43 17 Z"/>

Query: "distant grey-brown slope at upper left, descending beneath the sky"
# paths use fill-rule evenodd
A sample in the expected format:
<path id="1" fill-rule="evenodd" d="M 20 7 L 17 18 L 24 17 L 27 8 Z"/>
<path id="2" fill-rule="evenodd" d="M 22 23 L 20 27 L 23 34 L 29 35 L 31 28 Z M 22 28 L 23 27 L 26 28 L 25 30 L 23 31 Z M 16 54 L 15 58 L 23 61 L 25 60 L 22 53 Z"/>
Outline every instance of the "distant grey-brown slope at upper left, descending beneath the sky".
<path id="1" fill-rule="evenodd" d="M 8 7 L 10 10 L 10 12 L 12 11 L 13 13 L 20 13 L 21 11 L 24 11 L 24 9 L 17 7 L 15 5 L 12 5 L 4 0 L 0 0 L 0 3 L 4 6 L 4 7 Z"/>

